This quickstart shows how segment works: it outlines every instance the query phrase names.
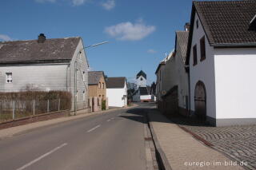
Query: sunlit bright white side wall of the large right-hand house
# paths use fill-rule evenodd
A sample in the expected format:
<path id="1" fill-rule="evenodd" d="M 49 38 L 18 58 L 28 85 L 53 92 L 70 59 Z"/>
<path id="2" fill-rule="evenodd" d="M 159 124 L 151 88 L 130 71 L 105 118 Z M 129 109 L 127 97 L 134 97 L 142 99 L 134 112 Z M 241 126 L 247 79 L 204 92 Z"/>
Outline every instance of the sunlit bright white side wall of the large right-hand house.
<path id="1" fill-rule="evenodd" d="M 256 48 L 214 53 L 217 118 L 256 118 Z"/>

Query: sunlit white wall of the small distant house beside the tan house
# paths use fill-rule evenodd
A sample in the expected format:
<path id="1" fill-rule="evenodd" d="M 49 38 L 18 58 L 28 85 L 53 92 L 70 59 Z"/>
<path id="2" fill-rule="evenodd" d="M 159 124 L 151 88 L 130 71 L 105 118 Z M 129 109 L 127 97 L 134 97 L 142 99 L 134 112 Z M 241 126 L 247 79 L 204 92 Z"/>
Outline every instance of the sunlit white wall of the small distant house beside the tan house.
<path id="1" fill-rule="evenodd" d="M 125 98 L 123 96 L 126 95 Z M 109 99 L 109 106 L 124 107 L 127 105 L 127 86 L 123 89 L 106 89 L 106 97 Z"/>

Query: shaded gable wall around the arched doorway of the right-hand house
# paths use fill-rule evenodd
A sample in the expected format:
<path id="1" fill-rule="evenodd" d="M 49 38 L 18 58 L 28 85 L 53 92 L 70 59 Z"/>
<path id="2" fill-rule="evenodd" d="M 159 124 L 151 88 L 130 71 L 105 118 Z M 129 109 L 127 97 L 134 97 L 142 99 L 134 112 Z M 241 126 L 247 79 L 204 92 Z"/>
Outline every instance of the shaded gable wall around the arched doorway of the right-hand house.
<path id="1" fill-rule="evenodd" d="M 198 20 L 198 29 L 196 21 Z M 206 59 L 200 61 L 200 39 L 206 38 Z M 198 64 L 193 65 L 193 46 L 197 45 Z M 190 109 L 194 111 L 194 89 L 198 81 L 202 81 L 206 86 L 206 115 L 215 118 L 215 82 L 214 82 L 214 48 L 210 46 L 202 24 L 195 14 L 193 39 L 190 49 Z"/>

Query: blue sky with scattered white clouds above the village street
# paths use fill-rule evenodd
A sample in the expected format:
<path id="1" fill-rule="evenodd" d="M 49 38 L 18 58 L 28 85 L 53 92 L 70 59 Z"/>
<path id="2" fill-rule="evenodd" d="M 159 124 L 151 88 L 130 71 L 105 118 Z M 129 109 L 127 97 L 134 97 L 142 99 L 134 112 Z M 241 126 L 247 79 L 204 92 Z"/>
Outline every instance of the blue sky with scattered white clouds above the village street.
<path id="1" fill-rule="evenodd" d="M 142 69 L 155 81 L 174 48 L 175 30 L 190 22 L 190 0 L 2 0 L 0 41 L 82 37 L 90 68 L 131 80 Z"/>

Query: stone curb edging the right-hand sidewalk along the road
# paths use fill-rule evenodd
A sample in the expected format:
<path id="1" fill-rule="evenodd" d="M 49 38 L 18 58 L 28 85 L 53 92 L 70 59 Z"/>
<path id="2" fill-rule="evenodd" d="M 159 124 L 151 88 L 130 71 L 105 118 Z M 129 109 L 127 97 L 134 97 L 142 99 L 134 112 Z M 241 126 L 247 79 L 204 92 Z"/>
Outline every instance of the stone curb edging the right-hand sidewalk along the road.
<path id="1" fill-rule="evenodd" d="M 151 136 L 153 138 L 154 147 L 156 148 L 155 151 L 156 151 L 156 156 L 157 156 L 157 160 L 158 160 L 158 166 L 161 170 L 172 170 L 172 168 L 170 167 L 169 161 L 166 158 L 166 154 L 162 151 L 162 148 L 160 147 L 160 144 L 159 144 L 158 138 L 154 132 L 154 128 L 151 123 L 150 117 L 148 116 L 148 112 L 146 113 L 146 117 L 149 122 L 149 127 L 150 127 Z"/>

